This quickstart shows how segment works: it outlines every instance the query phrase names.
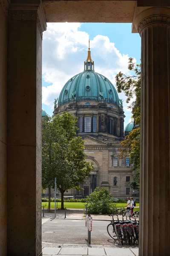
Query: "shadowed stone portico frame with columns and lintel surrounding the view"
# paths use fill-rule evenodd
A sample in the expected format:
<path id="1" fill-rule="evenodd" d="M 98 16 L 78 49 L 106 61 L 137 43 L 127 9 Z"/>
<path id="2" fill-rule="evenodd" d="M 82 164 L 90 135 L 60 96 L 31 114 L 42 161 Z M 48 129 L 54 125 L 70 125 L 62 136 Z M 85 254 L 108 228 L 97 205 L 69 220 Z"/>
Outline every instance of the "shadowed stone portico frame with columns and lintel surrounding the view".
<path id="1" fill-rule="evenodd" d="M 42 255 L 41 49 L 46 20 L 130 22 L 133 23 L 133 32 L 140 33 L 142 204 L 139 255 L 169 255 L 169 7 L 166 0 L 44 0 L 43 5 L 38 0 L 0 2 L 2 255 Z M 23 204 L 18 205 L 17 198 Z"/>

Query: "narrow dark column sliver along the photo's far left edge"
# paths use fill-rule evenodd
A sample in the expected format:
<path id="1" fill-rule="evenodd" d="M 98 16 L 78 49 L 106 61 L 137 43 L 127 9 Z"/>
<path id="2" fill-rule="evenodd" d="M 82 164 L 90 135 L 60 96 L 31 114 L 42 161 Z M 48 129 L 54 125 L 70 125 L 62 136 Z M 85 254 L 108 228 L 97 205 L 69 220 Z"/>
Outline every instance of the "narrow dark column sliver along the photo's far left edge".
<path id="1" fill-rule="evenodd" d="M 0 255 L 7 255 L 7 0 L 0 1 Z"/>

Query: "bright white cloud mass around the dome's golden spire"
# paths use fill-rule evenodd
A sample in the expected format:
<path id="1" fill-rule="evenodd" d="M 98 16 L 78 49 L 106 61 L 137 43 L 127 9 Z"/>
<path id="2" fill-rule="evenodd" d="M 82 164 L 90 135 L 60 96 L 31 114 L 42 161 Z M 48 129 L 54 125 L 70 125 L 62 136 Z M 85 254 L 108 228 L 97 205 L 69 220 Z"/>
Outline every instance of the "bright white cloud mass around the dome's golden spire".
<path id="1" fill-rule="evenodd" d="M 51 108 L 66 81 L 84 70 L 89 35 L 80 29 L 81 23 L 48 23 L 43 33 L 43 79 L 51 85 L 43 87 L 42 102 Z M 90 41 L 90 48 L 95 71 L 113 84 L 119 71 L 128 73 L 129 56 L 121 54 L 107 36 L 97 35 Z M 131 116 L 124 94 L 119 98 L 124 100 L 126 115 Z"/>

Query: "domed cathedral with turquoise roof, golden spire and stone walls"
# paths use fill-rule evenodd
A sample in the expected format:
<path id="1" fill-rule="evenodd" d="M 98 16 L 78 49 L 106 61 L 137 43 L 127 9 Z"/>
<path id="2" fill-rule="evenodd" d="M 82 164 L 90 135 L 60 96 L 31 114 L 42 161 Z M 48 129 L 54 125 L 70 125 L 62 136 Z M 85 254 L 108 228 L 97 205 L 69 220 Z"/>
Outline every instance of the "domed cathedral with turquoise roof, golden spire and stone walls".
<path id="1" fill-rule="evenodd" d="M 81 191 L 70 189 L 64 195 L 82 198 L 96 186 L 107 188 L 114 198 L 133 195 L 129 186 L 133 180 L 130 157 L 119 159 L 120 142 L 124 140 L 124 132 L 127 135 L 132 131 L 133 122 L 124 129 L 122 101 L 109 79 L 95 72 L 90 48 L 84 71 L 66 82 L 52 117 L 63 111 L 78 117 L 77 135 L 84 140 L 87 161 L 94 163 L 94 170 L 81 184 Z"/>

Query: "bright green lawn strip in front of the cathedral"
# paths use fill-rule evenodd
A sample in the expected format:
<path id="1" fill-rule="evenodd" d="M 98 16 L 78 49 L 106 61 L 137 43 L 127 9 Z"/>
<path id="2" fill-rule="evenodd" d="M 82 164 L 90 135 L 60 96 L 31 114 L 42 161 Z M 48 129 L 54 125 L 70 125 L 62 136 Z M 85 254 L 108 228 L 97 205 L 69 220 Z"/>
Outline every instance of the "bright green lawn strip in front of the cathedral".
<path id="1" fill-rule="evenodd" d="M 42 205 L 44 205 L 45 207 L 45 209 L 47 209 L 48 208 L 48 202 L 42 202 Z M 65 202 L 64 203 L 64 207 L 66 207 L 66 208 L 72 208 L 72 209 L 74 209 L 74 208 L 77 208 L 77 209 L 84 209 L 85 208 L 85 206 L 84 206 L 84 204 L 85 203 L 80 203 L 80 202 L 78 202 L 78 203 L 72 203 L 72 202 Z M 116 204 L 116 207 L 117 208 L 122 208 L 122 207 L 125 207 L 127 204 L 126 203 L 117 203 Z M 136 206 L 139 206 L 139 204 L 136 204 Z M 51 209 L 54 209 L 54 207 L 55 207 L 55 203 L 54 202 L 51 202 Z M 56 207 L 57 207 L 57 203 L 56 203 Z M 58 202 L 58 207 L 57 208 L 61 208 L 61 202 Z M 139 208 L 135 208 L 134 209 L 134 211 L 137 211 L 137 210 L 139 210 Z"/>

